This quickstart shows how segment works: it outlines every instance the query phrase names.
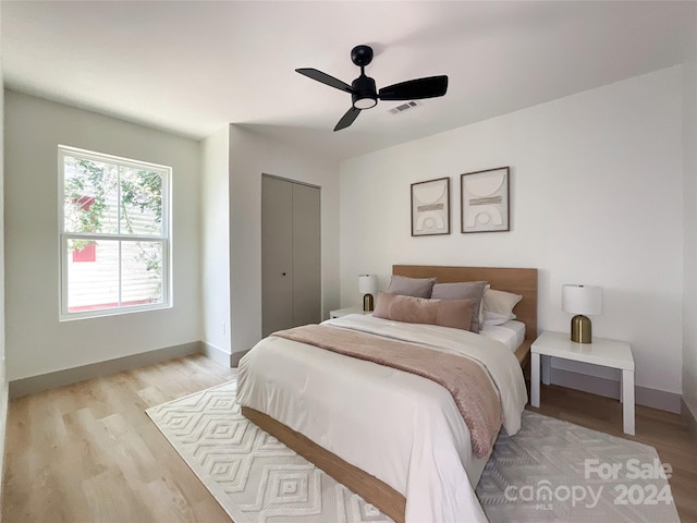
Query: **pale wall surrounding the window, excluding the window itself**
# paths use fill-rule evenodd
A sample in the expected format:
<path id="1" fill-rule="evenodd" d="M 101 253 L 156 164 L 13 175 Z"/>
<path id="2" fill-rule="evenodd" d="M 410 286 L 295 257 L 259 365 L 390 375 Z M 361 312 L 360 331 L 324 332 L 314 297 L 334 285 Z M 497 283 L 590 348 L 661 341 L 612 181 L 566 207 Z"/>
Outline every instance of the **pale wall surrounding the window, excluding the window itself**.
<path id="1" fill-rule="evenodd" d="M 11 90 L 4 115 L 8 378 L 199 341 L 199 144 Z M 59 144 L 172 167 L 172 308 L 58 320 Z"/>

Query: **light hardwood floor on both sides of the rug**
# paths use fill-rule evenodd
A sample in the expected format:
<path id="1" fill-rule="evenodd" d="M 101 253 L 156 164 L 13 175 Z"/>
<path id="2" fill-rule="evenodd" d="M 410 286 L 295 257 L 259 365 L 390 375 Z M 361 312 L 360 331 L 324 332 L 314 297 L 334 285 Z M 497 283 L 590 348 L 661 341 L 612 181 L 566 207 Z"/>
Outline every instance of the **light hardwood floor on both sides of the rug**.
<path id="1" fill-rule="evenodd" d="M 145 409 L 229 381 L 203 355 L 173 360 L 13 400 L 3 523 L 229 523 Z M 622 434 L 619 402 L 542 387 L 542 414 Z M 674 469 L 683 523 L 697 522 L 697 438 L 684 418 L 637 408 L 637 436 Z"/>

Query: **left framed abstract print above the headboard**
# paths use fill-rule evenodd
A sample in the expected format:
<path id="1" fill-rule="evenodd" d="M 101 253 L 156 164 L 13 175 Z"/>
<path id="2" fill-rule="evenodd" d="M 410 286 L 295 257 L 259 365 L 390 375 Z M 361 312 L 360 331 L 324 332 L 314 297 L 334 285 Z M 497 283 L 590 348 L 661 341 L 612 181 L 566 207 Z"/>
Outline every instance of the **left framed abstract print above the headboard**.
<path id="1" fill-rule="evenodd" d="M 450 234 L 450 178 L 412 184 L 412 236 Z"/>

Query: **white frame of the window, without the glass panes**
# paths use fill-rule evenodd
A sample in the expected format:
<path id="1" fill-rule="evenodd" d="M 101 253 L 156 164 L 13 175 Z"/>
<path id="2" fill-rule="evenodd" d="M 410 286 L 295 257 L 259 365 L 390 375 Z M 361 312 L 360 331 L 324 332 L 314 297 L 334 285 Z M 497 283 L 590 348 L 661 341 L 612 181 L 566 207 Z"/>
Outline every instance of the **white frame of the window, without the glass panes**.
<path id="1" fill-rule="evenodd" d="M 64 212 L 64 191 L 65 191 L 65 156 L 80 157 L 87 160 L 99 161 L 119 167 L 136 168 L 142 170 L 155 171 L 162 174 L 162 234 L 161 235 L 136 235 L 136 234 L 114 234 L 114 233 L 90 233 L 90 232 L 66 232 L 65 231 L 65 212 Z M 172 281 L 171 281 L 171 243 L 172 233 L 171 224 L 171 185 L 172 185 L 172 168 L 149 163 L 146 161 L 121 158 L 118 156 L 96 153 L 66 145 L 58 146 L 58 229 L 59 229 L 59 311 L 60 321 L 95 318 L 101 316 L 113 316 L 126 313 L 136 313 L 143 311 L 154 311 L 172 307 Z M 120 188 L 120 187 L 119 187 Z M 121 198 L 119 197 L 119 200 Z M 162 243 L 162 302 L 154 304 L 138 305 L 119 305 L 117 307 L 103 308 L 97 311 L 68 311 L 68 241 L 69 240 L 115 240 L 115 241 L 143 241 L 143 242 L 161 242 Z M 119 247 L 121 251 L 121 247 Z M 121 263 L 121 259 L 120 262 Z M 121 302 L 121 269 L 119 269 L 119 302 Z"/>

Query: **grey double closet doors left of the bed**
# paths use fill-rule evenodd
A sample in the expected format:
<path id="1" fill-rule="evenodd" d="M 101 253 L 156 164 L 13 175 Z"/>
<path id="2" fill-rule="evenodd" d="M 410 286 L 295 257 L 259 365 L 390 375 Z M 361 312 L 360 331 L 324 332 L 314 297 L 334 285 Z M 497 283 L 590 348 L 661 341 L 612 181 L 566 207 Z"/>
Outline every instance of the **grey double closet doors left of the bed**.
<path id="1" fill-rule="evenodd" d="M 262 177 L 261 333 L 321 320 L 320 190 Z"/>

